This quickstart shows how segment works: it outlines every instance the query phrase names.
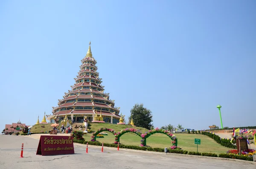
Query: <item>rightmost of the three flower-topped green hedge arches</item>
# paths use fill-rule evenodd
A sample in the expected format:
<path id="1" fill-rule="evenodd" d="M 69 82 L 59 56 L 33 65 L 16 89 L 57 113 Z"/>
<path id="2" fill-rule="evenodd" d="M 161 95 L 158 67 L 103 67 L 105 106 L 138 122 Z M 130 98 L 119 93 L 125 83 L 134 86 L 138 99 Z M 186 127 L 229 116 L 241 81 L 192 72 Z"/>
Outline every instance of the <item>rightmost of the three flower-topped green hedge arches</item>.
<path id="1" fill-rule="evenodd" d="M 149 130 L 148 132 L 146 132 L 145 134 L 141 135 L 141 146 L 147 146 L 147 138 L 155 133 L 162 133 L 164 135 L 167 135 L 169 138 L 171 138 L 172 140 L 172 145 L 173 146 L 177 146 L 178 144 L 178 139 L 175 137 L 175 135 L 173 135 L 171 132 L 169 132 L 168 130 L 164 130 L 164 129 L 153 129 L 153 130 Z"/>

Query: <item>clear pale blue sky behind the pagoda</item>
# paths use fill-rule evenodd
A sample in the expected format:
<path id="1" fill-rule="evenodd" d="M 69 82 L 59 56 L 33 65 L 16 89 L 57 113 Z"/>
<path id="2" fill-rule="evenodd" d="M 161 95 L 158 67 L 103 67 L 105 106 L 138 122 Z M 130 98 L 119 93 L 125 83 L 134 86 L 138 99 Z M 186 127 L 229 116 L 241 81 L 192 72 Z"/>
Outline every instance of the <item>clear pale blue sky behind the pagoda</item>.
<path id="1" fill-rule="evenodd" d="M 256 126 L 255 0 L 1 0 L 0 127 L 33 125 L 91 50 L 120 112 L 154 127 Z"/>

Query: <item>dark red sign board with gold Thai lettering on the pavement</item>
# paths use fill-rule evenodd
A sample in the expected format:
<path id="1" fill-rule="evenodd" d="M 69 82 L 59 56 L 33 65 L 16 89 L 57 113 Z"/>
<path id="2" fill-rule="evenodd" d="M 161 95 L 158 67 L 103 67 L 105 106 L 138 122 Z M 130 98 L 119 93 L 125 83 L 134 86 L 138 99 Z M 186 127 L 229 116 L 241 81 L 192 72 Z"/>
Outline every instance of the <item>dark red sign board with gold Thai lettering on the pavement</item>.
<path id="1" fill-rule="evenodd" d="M 37 155 L 68 155 L 74 154 L 72 136 L 41 135 Z"/>

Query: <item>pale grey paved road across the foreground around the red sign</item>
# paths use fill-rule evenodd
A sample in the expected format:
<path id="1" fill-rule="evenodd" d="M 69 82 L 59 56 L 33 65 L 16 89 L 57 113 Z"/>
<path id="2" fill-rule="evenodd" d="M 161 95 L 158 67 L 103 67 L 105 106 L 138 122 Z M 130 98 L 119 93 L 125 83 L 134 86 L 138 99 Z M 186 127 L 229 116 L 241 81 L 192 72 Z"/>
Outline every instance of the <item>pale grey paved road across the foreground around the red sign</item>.
<path id="1" fill-rule="evenodd" d="M 101 147 L 75 145 L 74 155 L 35 155 L 38 139 L 0 135 L 0 169 L 256 169 L 255 162 L 217 160 L 174 154 L 116 151 Z M 24 143 L 20 158 L 21 143 Z M 90 146 L 90 145 L 89 145 Z"/>

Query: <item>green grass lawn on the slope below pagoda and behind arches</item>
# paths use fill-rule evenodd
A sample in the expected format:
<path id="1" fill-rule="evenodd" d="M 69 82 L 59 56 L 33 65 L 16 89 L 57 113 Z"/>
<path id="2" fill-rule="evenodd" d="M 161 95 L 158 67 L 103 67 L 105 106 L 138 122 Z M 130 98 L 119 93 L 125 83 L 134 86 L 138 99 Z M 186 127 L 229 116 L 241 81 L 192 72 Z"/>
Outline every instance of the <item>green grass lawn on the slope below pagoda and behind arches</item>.
<path id="1" fill-rule="evenodd" d="M 74 129 L 75 125 L 74 124 L 72 125 L 73 130 L 76 130 Z M 49 130 L 52 129 L 52 126 L 50 126 L 50 124 L 45 124 L 44 126 L 45 126 L 45 128 L 43 128 L 44 132 L 45 131 L 48 132 Z M 102 127 L 114 129 L 116 132 L 119 132 L 122 129 L 130 128 L 132 126 L 91 123 L 90 132 L 94 132 Z M 141 127 L 134 127 L 134 128 L 140 129 L 142 133 L 145 133 L 148 131 L 147 129 L 144 129 Z M 40 132 L 41 130 L 42 130 L 41 125 L 34 125 L 31 129 L 31 132 Z M 115 140 L 114 135 L 111 132 L 107 132 L 107 133 L 108 135 L 104 136 L 104 138 L 97 138 L 96 140 L 103 143 L 113 143 Z M 83 137 L 85 140 L 90 141 L 91 136 L 92 134 L 88 133 Z M 224 153 L 230 150 L 230 148 L 221 146 L 220 144 L 216 143 L 215 140 L 205 135 L 177 133 L 175 134 L 175 136 L 178 138 L 178 146 L 187 151 L 197 150 L 197 145 L 194 143 L 195 138 L 201 139 L 201 145 L 198 145 L 198 152 L 212 152 L 212 153 L 219 154 L 219 153 Z M 134 133 L 125 133 L 120 137 L 120 143 L 125 145 L 139 146 L 140 140 L 141 138 Z M 171 143 L 171 139 L 167 135 L 156 133 L 147 138 L 147 146 L 165 148 L 165 147 L 172 146 L 172 143 Z"/>

